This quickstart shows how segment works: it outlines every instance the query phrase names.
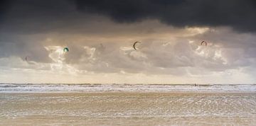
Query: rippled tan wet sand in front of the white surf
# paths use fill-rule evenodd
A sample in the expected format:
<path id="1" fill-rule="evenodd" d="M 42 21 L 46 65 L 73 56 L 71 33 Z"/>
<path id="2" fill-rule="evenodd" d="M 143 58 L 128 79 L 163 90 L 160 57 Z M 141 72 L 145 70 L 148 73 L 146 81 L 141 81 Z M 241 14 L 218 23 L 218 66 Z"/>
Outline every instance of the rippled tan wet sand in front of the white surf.
<path id="1" fill-rule="evenodd" d="M 0 125 L 256 125 L 256 93 L 0 93 Z"/>

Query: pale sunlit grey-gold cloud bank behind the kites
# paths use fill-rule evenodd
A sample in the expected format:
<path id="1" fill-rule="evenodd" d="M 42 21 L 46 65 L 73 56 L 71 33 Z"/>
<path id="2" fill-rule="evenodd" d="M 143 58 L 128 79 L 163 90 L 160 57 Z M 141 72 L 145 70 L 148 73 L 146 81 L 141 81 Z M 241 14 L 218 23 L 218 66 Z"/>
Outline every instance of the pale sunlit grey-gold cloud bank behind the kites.
<path id="1" fill-rule="evenodd" d="M 211 73 L 254 64 L 256 38 L 252 33 L 236 33 L 229 28 L 172 28 L 166 25 L 152 27 L 158 32 L 139 33 L 140 27 L 150 27 L 151 23 L 147 23 L 112 27 L 114 32 L 107 37 L 105 33 L 19 35 L 14 40 L 0 42 L 4 45 L 0 47 L 0 57 L 23 59 L 28 55 L 32 62 L 52 64 L 55 68 L 67 64 L 93 73 L 186 75 L 199 74 L 195 69 Z M 129 30 L 126 34 L 116 33 L 119 28 Z M 138 33 L 135 35 L 132 31 Z M 142 43 L 135 51 L 132 44 L 137 40 Z M 206 40 L 208 46 L 201 46 L 201 40 Z M 70 52 L 64 54 L 63 47 L 68 47 Z M 59 52 L 55 53 L 56 50 Z"/>

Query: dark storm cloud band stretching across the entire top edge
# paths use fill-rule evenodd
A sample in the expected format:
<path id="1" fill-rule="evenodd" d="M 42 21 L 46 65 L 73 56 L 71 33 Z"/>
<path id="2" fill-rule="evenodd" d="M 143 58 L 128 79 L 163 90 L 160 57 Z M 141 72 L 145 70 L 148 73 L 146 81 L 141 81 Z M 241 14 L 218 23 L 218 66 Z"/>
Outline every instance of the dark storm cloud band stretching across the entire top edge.
<path id="1" fill-rule="evenodd" d="M 118 23 L 158 19 L 177 27 L 230 26 L 242 32 L 256 30 L 254 0 L 1 0 L 0 30 L 62 30 L 91 20 L 80 12 L 108 16 Z"/>

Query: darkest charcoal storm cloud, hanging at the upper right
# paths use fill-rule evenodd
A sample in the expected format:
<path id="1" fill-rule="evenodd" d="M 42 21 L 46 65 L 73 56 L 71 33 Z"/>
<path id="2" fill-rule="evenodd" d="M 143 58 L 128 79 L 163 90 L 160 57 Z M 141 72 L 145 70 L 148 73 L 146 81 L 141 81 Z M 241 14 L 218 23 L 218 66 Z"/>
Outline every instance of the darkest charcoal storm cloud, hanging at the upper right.
<path id="1" fill-rule="evenodd" d="M 255 31 L 254 0 L 76 0 L 78 10 L 131 23 L 146 18 L 178 26 L 230 26 Z"/>

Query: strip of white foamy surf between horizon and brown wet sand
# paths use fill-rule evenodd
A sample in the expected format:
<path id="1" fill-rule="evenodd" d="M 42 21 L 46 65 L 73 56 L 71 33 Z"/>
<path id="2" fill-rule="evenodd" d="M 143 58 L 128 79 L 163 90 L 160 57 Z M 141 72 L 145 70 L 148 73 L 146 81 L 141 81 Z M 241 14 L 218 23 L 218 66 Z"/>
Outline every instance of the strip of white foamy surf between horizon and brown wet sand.
<path id="1" fill-rule="evenodd" d="M 0 84 L 0 92 L 256 92 L 255 84 Z"/>

